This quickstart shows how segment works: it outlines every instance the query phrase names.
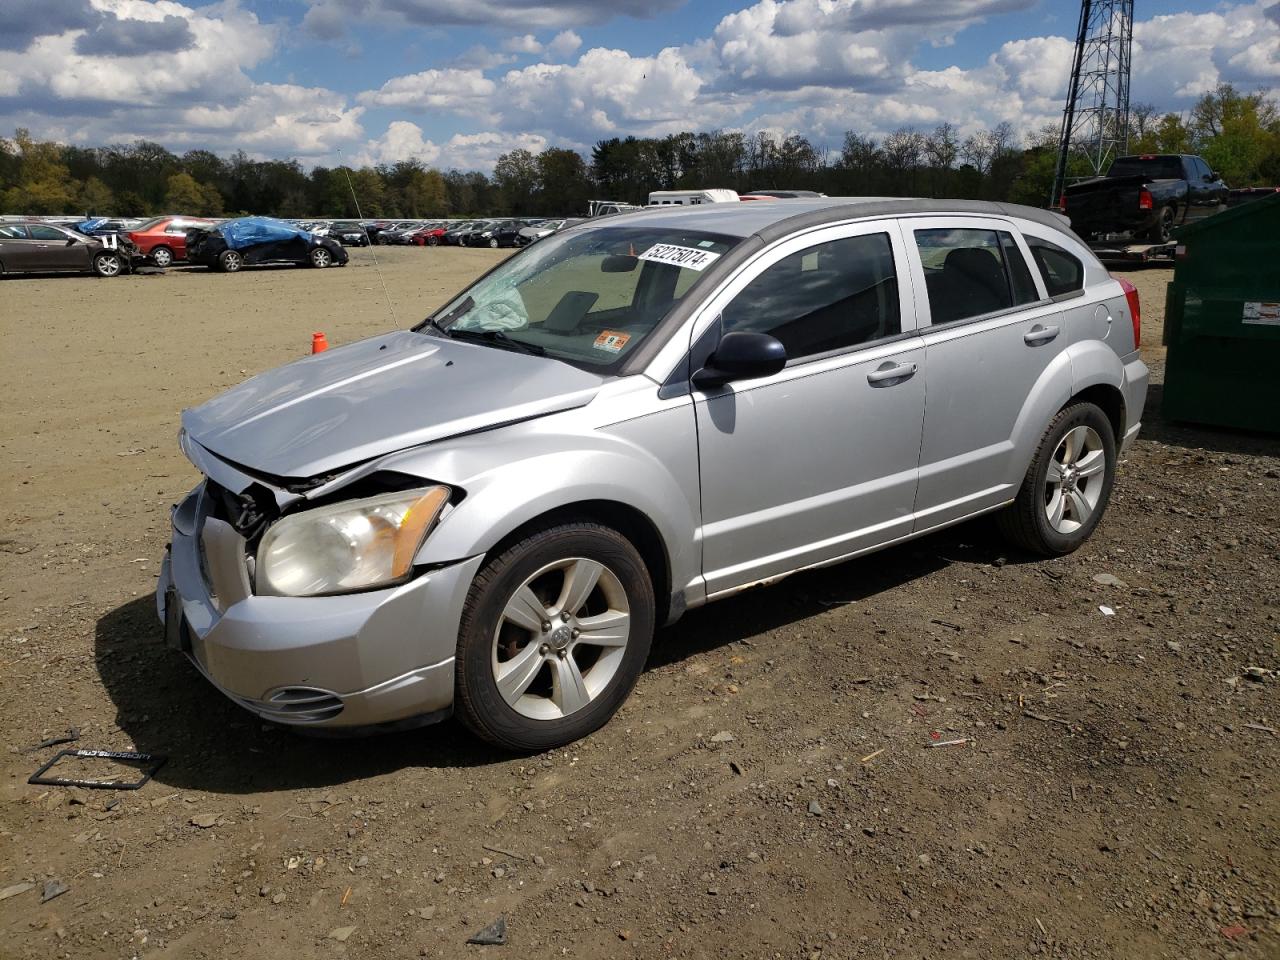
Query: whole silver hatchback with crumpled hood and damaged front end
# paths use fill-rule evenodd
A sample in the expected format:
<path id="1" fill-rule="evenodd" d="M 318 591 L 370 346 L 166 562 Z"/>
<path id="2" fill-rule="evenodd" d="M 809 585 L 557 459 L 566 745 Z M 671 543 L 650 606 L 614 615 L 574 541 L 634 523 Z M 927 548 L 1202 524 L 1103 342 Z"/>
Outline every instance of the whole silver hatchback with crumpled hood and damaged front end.
<path id="1" fill-rule="evenodd" d="M 183 413 L 166 641 L 298 728 L 604 723 L 686 609 L 989 511 L 1062 554 L 1140 425 L 1139 305 L 1055 214 L 589 221 L 412 330 Z"/>

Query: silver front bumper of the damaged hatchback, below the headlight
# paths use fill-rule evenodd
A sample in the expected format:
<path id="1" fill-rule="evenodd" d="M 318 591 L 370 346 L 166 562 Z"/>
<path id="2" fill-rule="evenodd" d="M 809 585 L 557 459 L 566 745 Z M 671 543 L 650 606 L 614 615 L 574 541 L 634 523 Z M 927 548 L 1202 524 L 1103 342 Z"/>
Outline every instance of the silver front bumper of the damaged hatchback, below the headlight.
<path id="1" fill-rule="evenodd" d="M 206 485 L 173 511 L 156 585 L 166 643 L 264 719 L 352 730 L 440 719 L 453 704 L 458 622 L 481 557 L 342 596 L 257 596 L 246 541 Z"/>

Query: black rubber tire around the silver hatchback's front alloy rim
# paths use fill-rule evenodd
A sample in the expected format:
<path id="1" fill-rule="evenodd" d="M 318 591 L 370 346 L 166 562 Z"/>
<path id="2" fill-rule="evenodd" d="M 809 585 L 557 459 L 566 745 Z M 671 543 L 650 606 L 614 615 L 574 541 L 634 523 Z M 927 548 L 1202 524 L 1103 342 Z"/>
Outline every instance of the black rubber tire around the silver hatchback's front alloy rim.
<path id="1" fill-rule="evenodd" d="M 576 558 L 603 564 L 625 591 L 630 613 L 626 646 L 612 677 L 585 707 L 553 719 L 532 719 L 503 699 L 494 677 L 498 631 L 507 630 L 503 609 L 529 577 L 548 564 Z M 456 660 L 460 719 L 483 740 L 518 753 L 550 750 L 591 733 L 608 722 L 635 687 L 653 643 L 654 616 L 649 571 L 635 547 L 616 530 L 577 522 L 526 536 L 485 563 L 467 594 Z M 539 637 L 526 640 L 526 645 L 538 643 Z M 545 649 L 545 644 L 541 646 Z M 573 650 L 568 653 L 573 655 Z M 553 663 L 549 672 L 554 672 Z"/>

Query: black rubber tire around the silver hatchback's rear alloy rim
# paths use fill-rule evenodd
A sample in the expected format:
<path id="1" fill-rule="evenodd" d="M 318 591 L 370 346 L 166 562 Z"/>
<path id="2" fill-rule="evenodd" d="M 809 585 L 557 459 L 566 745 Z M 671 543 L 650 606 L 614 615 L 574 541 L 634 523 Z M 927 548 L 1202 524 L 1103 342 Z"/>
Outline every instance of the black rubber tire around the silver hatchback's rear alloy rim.
<path id="1" fill-rule="evenodd" d="M 1097 435 L 1103 454 L 1103 474 L 1097 490 L 1097 500 L 1088 518 L 1070 532 L 1062 532 L 1050 522 L 1051 497 L 1047 493 L 1048 471 L 1056 462 L 1055 453 L 1071 430 L 1084 426 Z M 1015 547 L 1043 557 L 1061 557 L 1080 547 L 1094 531 L 1111 500 L 1111 488 L 1116 475 L 1115 431 L 1106 413 L 1093 403 L 1074 403 L 1062 408 L 1041 438 L 1039 447 L 1027 476 L 1018 490 L 1018 498 L 997 515 L 1000 531 Z M 1092 477 L 1085 483 L 1092 483 Z M 1084 490 L 1084 488 L 1080 488 Z"/>

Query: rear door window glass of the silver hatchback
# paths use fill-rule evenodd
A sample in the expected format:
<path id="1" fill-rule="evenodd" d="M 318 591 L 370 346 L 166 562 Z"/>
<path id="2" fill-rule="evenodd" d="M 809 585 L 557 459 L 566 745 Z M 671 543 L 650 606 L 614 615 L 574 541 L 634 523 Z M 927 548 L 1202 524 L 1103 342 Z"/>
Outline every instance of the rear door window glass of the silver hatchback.
<path id="1" fill-rule="evenodd" d="M 1027 262 L 1004 230 L 915 230 L 934 326 L 1039 300 Z"/>

